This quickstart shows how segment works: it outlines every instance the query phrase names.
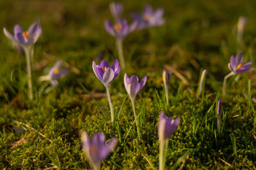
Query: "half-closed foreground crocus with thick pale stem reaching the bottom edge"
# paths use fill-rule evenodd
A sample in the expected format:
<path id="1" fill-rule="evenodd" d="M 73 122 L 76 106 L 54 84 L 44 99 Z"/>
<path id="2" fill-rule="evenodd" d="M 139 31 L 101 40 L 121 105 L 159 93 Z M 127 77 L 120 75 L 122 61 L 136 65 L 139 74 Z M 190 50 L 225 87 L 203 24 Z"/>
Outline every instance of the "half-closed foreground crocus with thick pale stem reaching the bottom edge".
<path id="1" fill-rule="evenodd" d="M 158 138 L 159 138 L 159 170 L 164 169 L 164 148 L 165 145 L 173 134 L 175 129 L 180 124 L 180 118 L 168 118 L 165 113 L 162 111 L 159 116 L 158 123 Z"/>

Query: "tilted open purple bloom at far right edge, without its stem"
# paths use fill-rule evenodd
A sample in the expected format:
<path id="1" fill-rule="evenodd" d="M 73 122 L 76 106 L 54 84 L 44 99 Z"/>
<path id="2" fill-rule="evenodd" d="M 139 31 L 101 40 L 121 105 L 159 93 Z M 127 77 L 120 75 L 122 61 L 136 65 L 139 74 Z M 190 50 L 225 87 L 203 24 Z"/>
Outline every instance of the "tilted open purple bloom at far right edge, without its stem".
<path id="1" fill-rule="evenodd" d="M 230 63 L 228 63 L 228 69 L 232 71 L 233 73 L 247 73 L 252 71 L 254 68 L 249 68 L 252 65 L 251 61 L 243 62 L 243 52 L 239 52 L 236 55 L 236 58 L 234 55 L 230 58 Z"/>

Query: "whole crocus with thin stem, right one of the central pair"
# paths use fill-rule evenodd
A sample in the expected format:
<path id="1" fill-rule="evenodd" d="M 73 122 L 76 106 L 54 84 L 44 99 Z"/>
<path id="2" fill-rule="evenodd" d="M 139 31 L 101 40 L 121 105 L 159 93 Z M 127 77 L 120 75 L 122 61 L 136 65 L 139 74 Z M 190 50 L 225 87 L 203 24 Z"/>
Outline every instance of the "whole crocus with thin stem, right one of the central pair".
<path id="1" fill-rule="evenodd" d="M 135 97 L 137 96 L 138 92 L 140 92 L 140 90 L 144 87 L 146 81 L 147 81 L 147 76 L 144 76 L 141 79 L 141 81 L 139 81 L 139 78 L 136 75 L 132 75 L 131 78 L 129 78 L 129 76 L 127 76 L 126 73 L 124 74 L 124 85 L 125 85 L 125 89 L 126 89 L 128 95 L 131 99 L 132 110 L 133 110 L 133 114 L 134 114 L 134 119 L 135 119 L 139 139 L 140 139 L 140 129 L 138 127 L 138 120 L 137 120 L 134 100 L 135 100 Z"/>

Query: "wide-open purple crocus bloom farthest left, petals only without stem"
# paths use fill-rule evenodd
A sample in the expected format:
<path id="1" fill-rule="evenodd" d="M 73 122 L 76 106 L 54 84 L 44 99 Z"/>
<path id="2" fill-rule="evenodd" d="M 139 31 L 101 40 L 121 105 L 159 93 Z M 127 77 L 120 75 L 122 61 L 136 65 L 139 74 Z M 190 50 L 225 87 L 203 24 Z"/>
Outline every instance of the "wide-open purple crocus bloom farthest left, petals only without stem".
<path id="1" fill-rule="evenodd" d="M 6 37 L 19 43 L 21 46 L 33 45 L 39 38 L 41 31 L 41 27 L 36 24 L 36 22 L 29 26 L 28 31 L 24 31 L 20 25 L 15 25 L 13 28 L 13 35 L 4 27 L 4 34 Z"/>

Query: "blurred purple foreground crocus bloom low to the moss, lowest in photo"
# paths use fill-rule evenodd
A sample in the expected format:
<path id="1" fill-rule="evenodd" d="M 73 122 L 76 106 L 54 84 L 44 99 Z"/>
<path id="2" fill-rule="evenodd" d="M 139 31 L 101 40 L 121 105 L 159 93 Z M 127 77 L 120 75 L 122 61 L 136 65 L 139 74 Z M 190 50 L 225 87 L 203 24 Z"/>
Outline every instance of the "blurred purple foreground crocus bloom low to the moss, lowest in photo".
<path id="1" fill-rule="evenodd" d="M 113 137 L 106 143 L 104 133 L 96 132 L 90 138 L 86 131 L 81 133 L 82 147 L 86 157 L 90 160 L 93 169 L 99 169 L 101 162 L 114 150 L 117 138 Z"/>

